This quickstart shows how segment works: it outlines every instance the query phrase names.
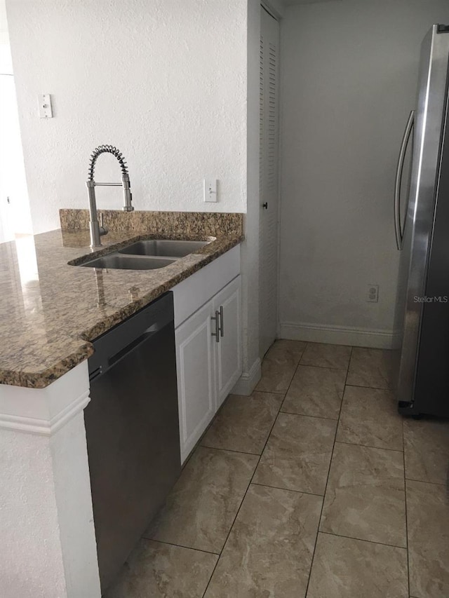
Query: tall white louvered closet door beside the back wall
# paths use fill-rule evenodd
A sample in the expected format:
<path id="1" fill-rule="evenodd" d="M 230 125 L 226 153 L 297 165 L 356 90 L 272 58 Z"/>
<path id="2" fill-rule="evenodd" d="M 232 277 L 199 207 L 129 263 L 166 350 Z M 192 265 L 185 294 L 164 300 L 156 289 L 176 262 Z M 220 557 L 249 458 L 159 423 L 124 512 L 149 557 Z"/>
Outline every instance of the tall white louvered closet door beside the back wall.
<path id="1" fill-rule="evenodd" d="M 276 337 L 278 287 L 279 23 L 260 8 L 260 356 Z"/>

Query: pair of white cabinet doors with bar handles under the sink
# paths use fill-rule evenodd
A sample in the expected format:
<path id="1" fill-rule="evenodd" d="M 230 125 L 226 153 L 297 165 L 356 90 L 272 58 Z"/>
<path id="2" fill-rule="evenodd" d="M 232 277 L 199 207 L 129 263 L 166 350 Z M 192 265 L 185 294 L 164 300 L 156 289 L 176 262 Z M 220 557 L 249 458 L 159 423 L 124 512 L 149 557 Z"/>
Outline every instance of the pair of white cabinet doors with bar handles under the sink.
<path id="1" fill-rule="evenodd" d="M 240 276 L 177 326 L 175 344 L 184 462 L 241 375 Z"/>

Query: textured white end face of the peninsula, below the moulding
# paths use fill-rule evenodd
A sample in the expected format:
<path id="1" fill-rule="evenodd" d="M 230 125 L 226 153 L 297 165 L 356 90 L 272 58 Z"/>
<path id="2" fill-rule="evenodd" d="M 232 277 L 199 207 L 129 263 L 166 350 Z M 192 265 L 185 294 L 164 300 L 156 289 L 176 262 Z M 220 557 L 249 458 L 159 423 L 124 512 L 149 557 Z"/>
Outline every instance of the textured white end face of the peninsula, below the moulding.
<path id="1" fill-rule="evenodd" d="M 0 428 L 0 590 L 4 598 L 67 596 L 50 444 L 45 436 Z"/>

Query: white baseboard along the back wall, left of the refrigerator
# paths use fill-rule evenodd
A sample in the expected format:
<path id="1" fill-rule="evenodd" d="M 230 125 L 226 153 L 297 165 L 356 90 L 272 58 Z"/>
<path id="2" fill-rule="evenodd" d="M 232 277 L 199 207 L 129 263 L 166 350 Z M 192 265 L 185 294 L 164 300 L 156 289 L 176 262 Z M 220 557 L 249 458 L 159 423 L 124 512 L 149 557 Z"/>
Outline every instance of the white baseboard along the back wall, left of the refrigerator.
<path id="1" fill-rule="evenodd" d="M 391 349 L 394 342 L 392 330 L 369 330 L 366 328 L 293 322 L 284 322 L 279 325 L 279 337 L 293 341 L 376 349 Z"/>

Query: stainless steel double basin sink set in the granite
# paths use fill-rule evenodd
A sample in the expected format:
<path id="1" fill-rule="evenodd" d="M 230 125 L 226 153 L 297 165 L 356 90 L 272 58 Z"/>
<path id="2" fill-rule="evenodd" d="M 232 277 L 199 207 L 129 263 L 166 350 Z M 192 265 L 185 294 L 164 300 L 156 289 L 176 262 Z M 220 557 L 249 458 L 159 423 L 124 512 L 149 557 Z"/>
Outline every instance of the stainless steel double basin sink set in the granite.
<path id="1" fill-rule="evenodd" d="M 119 268 L 121 270 L 156 270 L 194 253 L 209 241 L 148 239 L 135 241 L 126 247 L 102 255 L 81 266 L 89 268 Z"/>

